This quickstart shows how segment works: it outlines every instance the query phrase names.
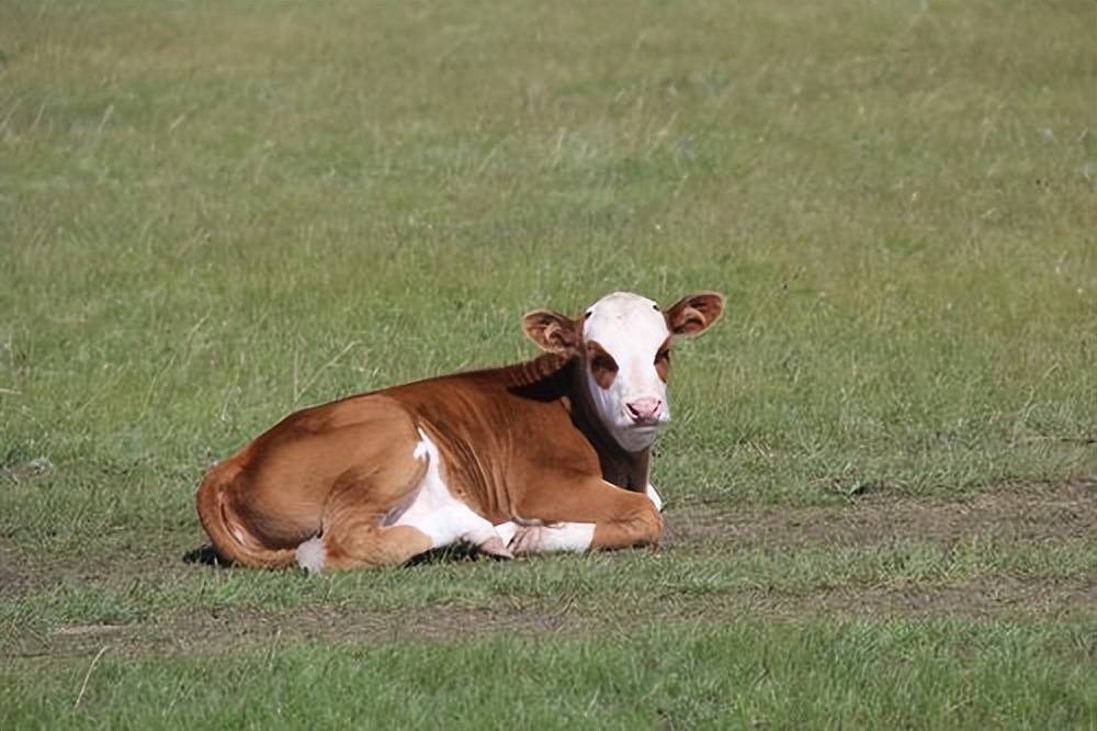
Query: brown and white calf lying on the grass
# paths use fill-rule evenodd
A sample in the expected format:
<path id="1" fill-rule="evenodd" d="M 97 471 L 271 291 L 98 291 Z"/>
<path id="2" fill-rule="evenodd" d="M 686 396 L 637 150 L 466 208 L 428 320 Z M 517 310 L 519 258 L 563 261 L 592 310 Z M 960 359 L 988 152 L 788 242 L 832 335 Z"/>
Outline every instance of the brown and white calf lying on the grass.
<path id="1" fill-rule="evenodd" d="M 723 307 L 713 292 L 666 312 L 614 293 L 574 319 L 531 312 L 547 351 L 532 361 L 290 415 L 206 475 L 202 526 L 226 561 L 309 571 L 455 542 L 500 556 L 658 543 L 648 454 L 670 419 L 671 345 Z"/>

